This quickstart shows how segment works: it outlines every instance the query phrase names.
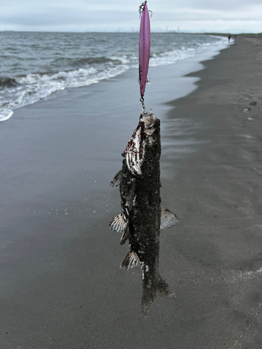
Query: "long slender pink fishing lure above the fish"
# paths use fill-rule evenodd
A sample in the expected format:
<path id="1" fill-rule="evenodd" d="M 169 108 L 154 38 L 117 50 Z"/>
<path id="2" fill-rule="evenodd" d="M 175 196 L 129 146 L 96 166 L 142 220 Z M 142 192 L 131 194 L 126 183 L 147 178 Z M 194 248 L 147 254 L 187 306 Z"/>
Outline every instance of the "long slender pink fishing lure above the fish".
<path id="1" fill-rule="evenodd" d="M 147 1 L 140 6 L 140 11 L 142 13 L 139 34 L 139 83 L 140 95 L 143 100 L 150 62 L 150 15 L 147 10 Z"/>

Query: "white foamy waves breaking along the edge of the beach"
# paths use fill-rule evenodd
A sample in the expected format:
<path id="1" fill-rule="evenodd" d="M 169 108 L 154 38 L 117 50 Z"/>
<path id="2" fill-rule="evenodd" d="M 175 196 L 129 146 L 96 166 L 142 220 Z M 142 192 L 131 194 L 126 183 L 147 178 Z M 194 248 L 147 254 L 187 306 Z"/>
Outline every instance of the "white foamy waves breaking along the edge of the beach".
<path id="1" fill-rule="evenodd" d="M 197 36 L 191 37 L 187 38 L 187 43 L 177 45 L 173 50 L 170 50 L 168 40 L 166 45 L 162 43 L 163 47 L 160 47 L 160 41 L 157 43 L 156 40 L 157 45 L 152 45 L 154 51 L 151 53 L 150 66 L 173 64 L 177 60 L 194 57 L 201 52 L 212 52 L 212 50 L 221 50 L 221 48 L 226 47 L 226 38 L 206 36 L 205 40 L 210 41 L 206 43 L 201 42 Z M 117 39 L 115 41 L 116 47 Z M 112 50 L 108 49 L 106 54 L 101 55 L 97 54 L 95 48 L 92 48 L 94 56 L 89 57 L 63 57 L 61 52 L 56 52 L 46 64 L 52 71 L 0 76 L 0 121 L 8 120 L 13 115 L 13 110 L 36 103 L 57 91 L 96 84 L 101 80 L 115 77 L 126 70 L 138 67 L 138 54 L 134 48 L 126 50 L 129 54 L 121 54 L 115 52 L 112 47 Z M 135 48 L 137 49 L 137 47 Z M 8 62 L 6 66 L 10 69 L 10 73 L 17 71 L 15 67 L 21 57 L 17 55 L 17 60 L 15 60 L 13 50 L 12 56 L 5 54 L 1 56 L 1 58 L 3 57 L 9 57 L 9 60 L 6 58 L 6 62 Z M 12 58 L 10 59 L 10 57 Z M 31 66 L 31 61 L 32 59 L 29 59 L 28 66 L 24 70 L 31 70 L 31 68 L 36 70 L 37 66 Z M 41 59 L 42 61 L 44 59 Z"/>

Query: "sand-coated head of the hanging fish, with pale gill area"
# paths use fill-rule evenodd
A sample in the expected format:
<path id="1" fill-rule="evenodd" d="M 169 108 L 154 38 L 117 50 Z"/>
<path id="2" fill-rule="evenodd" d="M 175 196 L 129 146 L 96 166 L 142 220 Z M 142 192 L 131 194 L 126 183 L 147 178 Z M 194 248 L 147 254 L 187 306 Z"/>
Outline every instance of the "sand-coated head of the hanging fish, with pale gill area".
<path id="1" fill-rule="evenodd" d="M 149 152 L 156 154 L 157 160 L 160 158 L 160 121 L 154 114 L 145 113 L 140 114 L 138 126 L 122 154 L 132 174 L 143 174 L 142 165 Z"/>

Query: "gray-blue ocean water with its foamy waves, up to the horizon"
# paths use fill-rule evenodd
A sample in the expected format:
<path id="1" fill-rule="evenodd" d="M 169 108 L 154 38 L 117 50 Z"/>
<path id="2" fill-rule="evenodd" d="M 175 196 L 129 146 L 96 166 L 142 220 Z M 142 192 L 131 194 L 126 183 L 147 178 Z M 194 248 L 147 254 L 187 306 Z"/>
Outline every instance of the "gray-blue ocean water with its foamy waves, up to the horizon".
<path id="1" fill-rule="evenodd" d="M 151 36 L 150 66 L 175 64 L 226 47 L 201 34 Z M 138 33 L 0 31 L 0 121 L 56 91 L 97 84 L 138 69 Z"/>

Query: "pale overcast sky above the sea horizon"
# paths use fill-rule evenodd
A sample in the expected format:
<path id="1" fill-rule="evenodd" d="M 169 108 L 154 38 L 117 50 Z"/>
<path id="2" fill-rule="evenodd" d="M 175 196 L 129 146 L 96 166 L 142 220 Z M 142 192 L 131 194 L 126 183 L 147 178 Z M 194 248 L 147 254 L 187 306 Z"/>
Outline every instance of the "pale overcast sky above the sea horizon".
<path id="1" fill-rule="evenodd" d="M 0 0 L 0 30 L 138 31 L 140 0 Z M 152 31 L 262 32 L 262 0 L 148 0 Z"/>

